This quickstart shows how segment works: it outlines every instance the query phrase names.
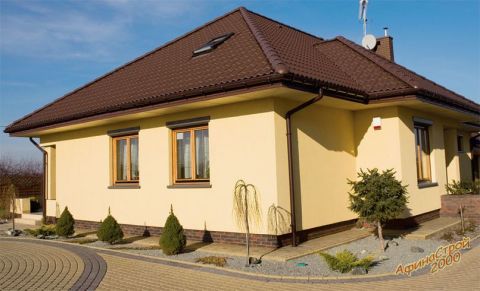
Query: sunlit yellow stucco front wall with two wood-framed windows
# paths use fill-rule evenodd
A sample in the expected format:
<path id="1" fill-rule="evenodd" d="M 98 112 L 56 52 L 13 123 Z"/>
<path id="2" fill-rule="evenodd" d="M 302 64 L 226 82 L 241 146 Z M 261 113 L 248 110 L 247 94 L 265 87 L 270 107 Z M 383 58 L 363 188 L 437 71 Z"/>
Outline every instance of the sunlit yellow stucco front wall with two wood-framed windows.
<path id="1" fill-rule="evenodd" d="M 212 188 L 167 189 L 171 175 L 170 130 L 165 122 L 210 116 L 209 147 Z M 108 130 L 140 126 L 140 189 L 110 186 Z M 56 203 L 76 219 L 99 221 L 108 208 L 119 223 L 163 226 L 170 204 L 184 228 L 239 231 L 232 215 L 233 188 L 245 179 L 260 193 L 262 225 L 277 203 L 273 101 L 263 99 L 170 116 L 132 121 L 42 137 L 56 147 Z M 53 207 L 53 202 L 49 203 Z M 48 213 L 53 213 L 48 209 Z"/>

